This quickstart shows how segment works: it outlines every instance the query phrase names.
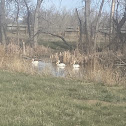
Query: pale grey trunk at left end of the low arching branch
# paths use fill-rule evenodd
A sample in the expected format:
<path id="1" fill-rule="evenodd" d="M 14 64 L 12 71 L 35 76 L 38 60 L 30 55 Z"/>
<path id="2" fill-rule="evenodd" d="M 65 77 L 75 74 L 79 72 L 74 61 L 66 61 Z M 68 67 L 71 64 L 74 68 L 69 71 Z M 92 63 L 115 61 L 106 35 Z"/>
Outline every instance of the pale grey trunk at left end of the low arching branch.
<path id="1" fill-rule="evenodd" d="M 37 43 L 37 40 L 38 40 L 38 35 L 37 32 L 38 32 L 38 28 L 39 28 L 39 24 L 38 24 L 38 18 L 39 18 L 39 10 L 40 10 L 40 7 L 41 7 L 41 3 L 42 3 L 43 0 L 37 0 L 37 5 L 36 5 L 36 9 L 35 9 L 35 15 L 34 15 L 34 47 L 36 48 L 38 43 Z"/>

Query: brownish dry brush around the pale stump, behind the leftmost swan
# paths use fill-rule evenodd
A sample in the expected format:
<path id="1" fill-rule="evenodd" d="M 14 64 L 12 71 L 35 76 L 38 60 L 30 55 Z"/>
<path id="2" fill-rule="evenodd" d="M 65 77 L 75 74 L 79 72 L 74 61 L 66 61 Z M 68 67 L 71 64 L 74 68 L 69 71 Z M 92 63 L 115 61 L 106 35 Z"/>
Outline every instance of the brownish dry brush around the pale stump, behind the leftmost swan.
<path id="1" fill-rule="evenodd" d="M 6 52 L 14 55 L 26 55 L 29 57 L 41 57 L 49 56 L 52 52 L 50 48 L 44 47 L 43 45 L 38 45 L 36 48 L 32 48 L 26 43 L 25 39 L 20 39 L 20 42 L 16 42 L 16 38 L 10 37 L 9 44 L 6 46 Z M 3 46 L 1 45 L 1 48 Z M 3 48 L 4 49 L 4 48 Z M 4 49 L 5 50 L 5 49 Z"/>

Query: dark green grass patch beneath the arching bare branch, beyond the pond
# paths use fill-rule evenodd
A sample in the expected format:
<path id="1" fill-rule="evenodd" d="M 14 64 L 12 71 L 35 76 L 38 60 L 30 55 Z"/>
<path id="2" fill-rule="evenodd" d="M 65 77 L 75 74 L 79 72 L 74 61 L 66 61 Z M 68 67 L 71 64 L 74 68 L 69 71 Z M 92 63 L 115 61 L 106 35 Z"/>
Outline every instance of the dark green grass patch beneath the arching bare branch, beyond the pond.
<path id="1" fill-rule="evenodd" d="M 53 50 L 56 51 L 64 51 L 64 50 L 70 50 L 70 49 L 75 49 L 76 43 L 75 42 L 68 42 L 68 45 L 66 45 L 63 41 L 44 41 L 44 40 L 39 40 L 39 45 L 43 45 L 45 47 L 49 47 Z"/>

